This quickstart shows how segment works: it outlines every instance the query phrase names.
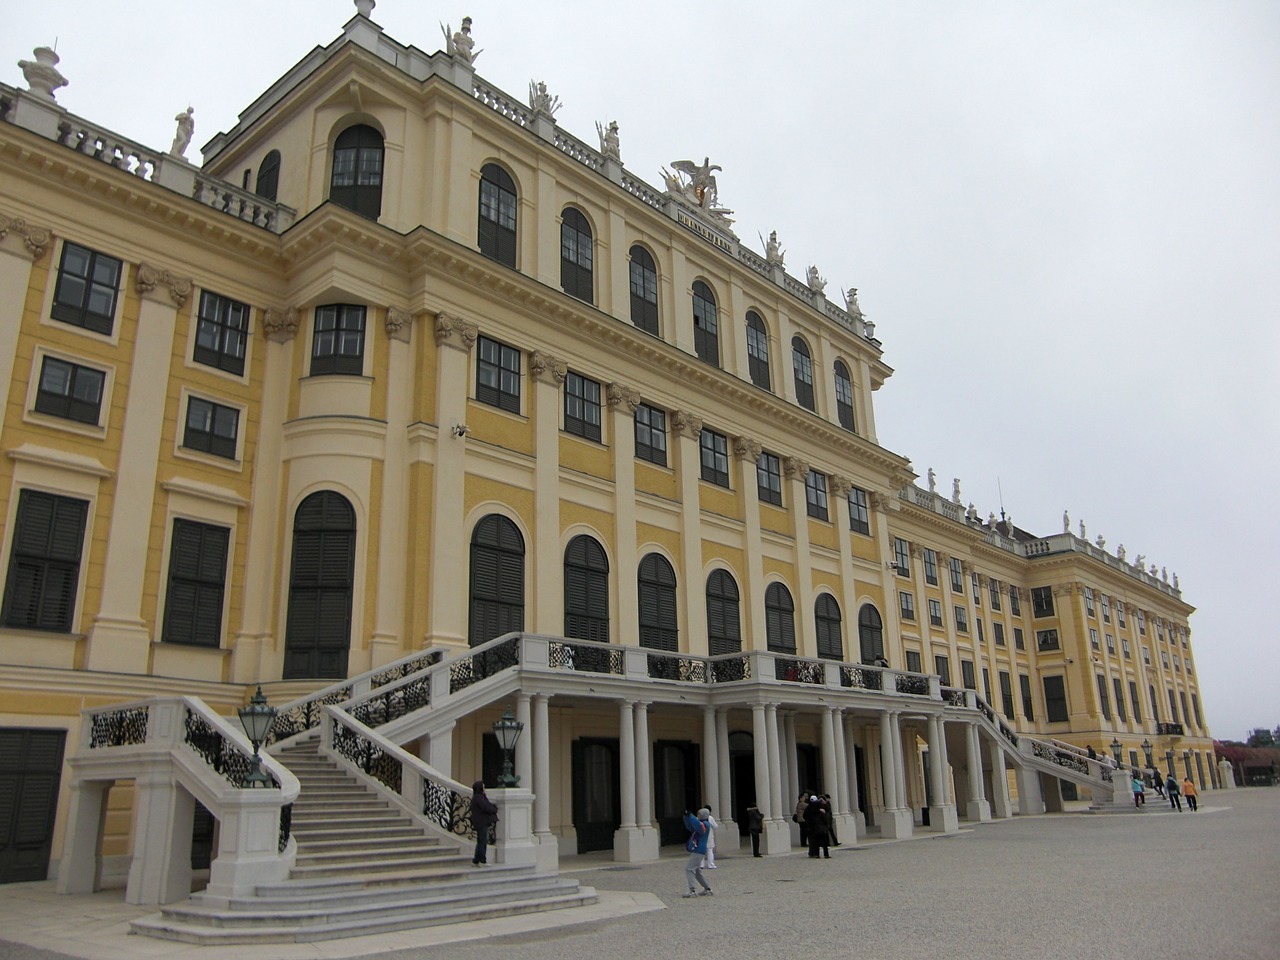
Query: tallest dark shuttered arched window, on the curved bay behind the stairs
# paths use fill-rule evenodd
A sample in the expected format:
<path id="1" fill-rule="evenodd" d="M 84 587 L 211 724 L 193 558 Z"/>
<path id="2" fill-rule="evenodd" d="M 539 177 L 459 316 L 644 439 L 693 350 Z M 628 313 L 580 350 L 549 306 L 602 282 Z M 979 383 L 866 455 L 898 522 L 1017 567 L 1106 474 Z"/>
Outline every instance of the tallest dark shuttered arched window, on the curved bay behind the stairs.
<path id="1" fill-rule="evenodd" d="M 311 494 L 293 515 L 285 680 L 347 676 L 355 573 L 356 511 L 333 490 Z"/>

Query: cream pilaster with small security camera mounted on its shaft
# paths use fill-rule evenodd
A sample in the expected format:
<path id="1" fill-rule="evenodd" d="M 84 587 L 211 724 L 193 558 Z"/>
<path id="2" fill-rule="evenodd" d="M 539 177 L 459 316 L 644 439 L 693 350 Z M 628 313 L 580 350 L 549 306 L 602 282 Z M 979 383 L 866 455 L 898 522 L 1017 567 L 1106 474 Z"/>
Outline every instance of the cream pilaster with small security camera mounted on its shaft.
<path id="1" fill-rule="evenodd" d="M 457 556 L 467 543 L 462 512 L 466 489 L 465 436 L 454 436 L 454 424 L 465 424 L 471 348 L 480 328 L 449 314 L 435 316 L 435 410 L 439 434 L 431 486 L 431 617 L 426 644 L 457 646 L 467 641 L 467 596 L 457 588 Z"/>

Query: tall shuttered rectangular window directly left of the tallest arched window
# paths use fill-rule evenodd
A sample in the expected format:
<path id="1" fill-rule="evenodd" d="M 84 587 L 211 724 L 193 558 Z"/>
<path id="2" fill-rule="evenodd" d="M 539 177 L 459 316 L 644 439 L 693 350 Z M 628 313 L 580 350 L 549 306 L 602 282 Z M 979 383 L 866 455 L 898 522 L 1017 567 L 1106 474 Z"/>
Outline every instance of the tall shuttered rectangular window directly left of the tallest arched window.
<path id="1" fill-rule="evenodd" d="M 224 526 L 173 521 L 164 612 L 165 643 L 195 646 L 221 644 L 229 540 L 230 530 Z"/>

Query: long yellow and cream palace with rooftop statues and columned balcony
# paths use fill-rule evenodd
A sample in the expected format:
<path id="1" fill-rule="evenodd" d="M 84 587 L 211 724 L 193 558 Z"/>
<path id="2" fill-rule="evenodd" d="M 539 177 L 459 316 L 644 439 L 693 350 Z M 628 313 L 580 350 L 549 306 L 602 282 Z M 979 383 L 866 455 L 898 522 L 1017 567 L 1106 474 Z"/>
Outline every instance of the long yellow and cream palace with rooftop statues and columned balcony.
<path id="1" fill-rule="evenodd" d="M 707 803 L 790 852 L 801 790 L 846 845 L 1098 803 L 1085 746 L 1215 785 L 1176 579 L 918 483 L 856 297 L 748 250 L 718 166 L 649 183 L 470 20 L 356 6 L 202 166 L 47 49 L 0 84 L 0 882 L 297 876 L 307 742 L 461 833 L 430 797 L 495 783 L 508 708 L 543 873 Z M 278 790 L 227 776 L 257 685 Z"/>

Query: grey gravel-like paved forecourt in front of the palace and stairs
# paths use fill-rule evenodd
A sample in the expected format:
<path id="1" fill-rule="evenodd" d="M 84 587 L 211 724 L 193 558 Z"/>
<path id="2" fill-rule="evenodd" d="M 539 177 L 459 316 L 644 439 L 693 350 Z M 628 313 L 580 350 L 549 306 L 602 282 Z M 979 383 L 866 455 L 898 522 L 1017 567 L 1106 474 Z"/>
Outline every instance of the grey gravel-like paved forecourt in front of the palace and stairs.
<path id="1" fill-rule="evenodd" d="M 566 868 L 595 908 L 317 945 L 200 948 L 127 936 L 119 892 L 0 886 L 0 960 L 1280 960 L 1280 788 L 1208 794 L 1197 814 L 1065 814 L 831 860 L 722 856 L 682 900 L 684 858 Z M 1158 945 L 1158 951 L 1157 951 Z"/>

